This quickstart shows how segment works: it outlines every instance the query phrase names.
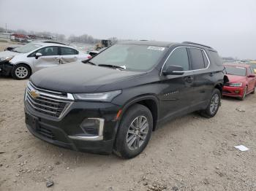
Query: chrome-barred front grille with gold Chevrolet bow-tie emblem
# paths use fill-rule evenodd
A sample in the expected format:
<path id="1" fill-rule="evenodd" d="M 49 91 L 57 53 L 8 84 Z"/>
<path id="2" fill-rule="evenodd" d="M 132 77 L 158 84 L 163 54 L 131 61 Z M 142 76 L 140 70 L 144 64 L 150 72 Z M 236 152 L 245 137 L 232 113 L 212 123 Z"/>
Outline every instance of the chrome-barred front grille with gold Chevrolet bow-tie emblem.
<path id="1" fill-rule="evenodd" d="M 41 89 L 31 82 L 26 87 L 25 99 L 36 112 L 55 118 L 63 116 L 74 100 L 72 94 Z"/>

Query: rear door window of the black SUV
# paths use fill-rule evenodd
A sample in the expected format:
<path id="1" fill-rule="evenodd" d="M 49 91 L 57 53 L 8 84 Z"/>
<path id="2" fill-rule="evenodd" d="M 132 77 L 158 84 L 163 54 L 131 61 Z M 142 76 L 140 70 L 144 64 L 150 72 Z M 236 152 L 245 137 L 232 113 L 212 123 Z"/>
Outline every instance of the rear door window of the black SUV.
<path id="1" fill-rule="evenodd" d="M 192 61 L 192 70 L 204 69 L 205 63 L 203 59 L 203 52 L 197 48 L 189 48 Z"/>

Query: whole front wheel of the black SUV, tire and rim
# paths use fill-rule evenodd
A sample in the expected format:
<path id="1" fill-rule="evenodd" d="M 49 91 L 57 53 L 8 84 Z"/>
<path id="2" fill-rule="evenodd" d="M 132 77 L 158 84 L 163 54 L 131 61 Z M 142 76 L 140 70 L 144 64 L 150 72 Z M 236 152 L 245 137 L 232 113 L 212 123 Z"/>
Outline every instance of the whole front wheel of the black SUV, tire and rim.
<path id="1" fill-rule="evenodd" d="M 148 144 L 152 129 L 153 117 L 150 110 L 140 104 L 131 106 L 121 119 L 114 153 L 127 159 L 136 157 Z"/>

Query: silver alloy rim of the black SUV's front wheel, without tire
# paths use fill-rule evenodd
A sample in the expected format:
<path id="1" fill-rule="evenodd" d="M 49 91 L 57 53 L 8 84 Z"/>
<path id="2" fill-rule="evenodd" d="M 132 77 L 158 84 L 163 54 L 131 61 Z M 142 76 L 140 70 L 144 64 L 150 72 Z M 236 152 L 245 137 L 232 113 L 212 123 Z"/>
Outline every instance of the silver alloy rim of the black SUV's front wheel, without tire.
<path id="1" fill-rule="evenodd" d="M 131 150 L 138 149 L 148 135 L 148 119 L 138 116 L 131 122 L 127 131 L 127 146 Z"/>

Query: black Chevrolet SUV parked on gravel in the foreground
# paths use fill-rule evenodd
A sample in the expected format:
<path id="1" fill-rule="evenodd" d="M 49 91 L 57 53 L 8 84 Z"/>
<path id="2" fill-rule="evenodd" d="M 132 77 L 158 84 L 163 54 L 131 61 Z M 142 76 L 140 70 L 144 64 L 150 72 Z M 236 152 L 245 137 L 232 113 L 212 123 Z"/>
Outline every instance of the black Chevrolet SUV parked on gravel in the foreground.
<path id="1" fill-rule="evenodd" d="M 160 123 L 195 111 L 214 117 L 223 69 L 217 51 L 202 44 L 122 42 L 33 74 L 26 125 L 60 147 L 135 157 Z"/>

